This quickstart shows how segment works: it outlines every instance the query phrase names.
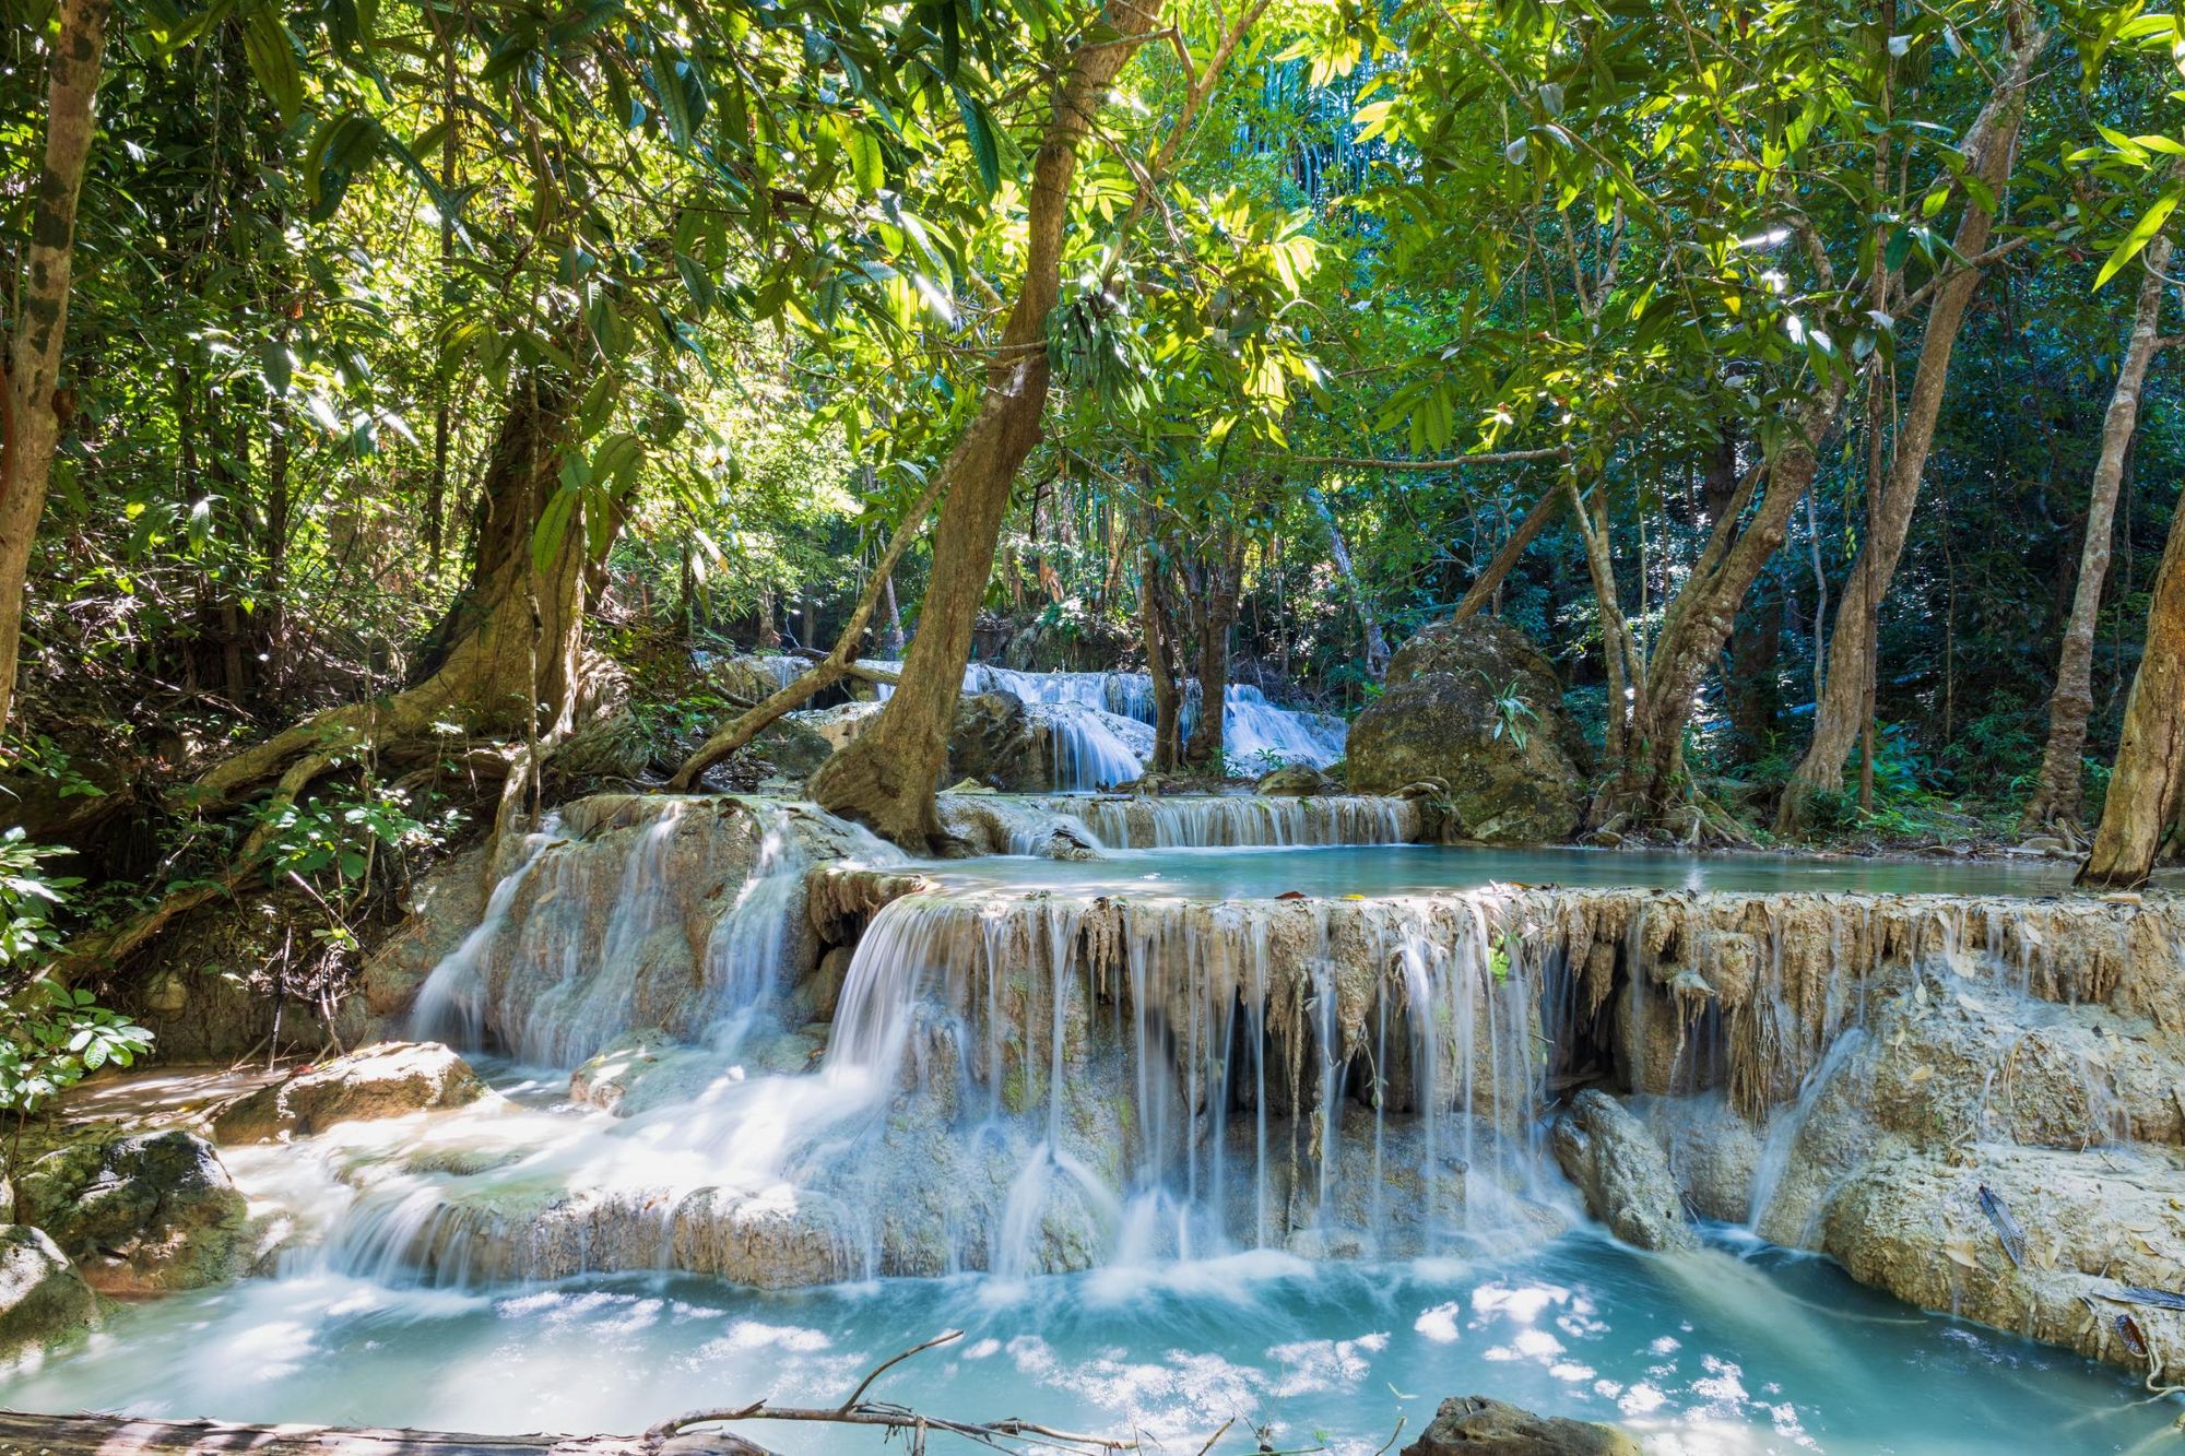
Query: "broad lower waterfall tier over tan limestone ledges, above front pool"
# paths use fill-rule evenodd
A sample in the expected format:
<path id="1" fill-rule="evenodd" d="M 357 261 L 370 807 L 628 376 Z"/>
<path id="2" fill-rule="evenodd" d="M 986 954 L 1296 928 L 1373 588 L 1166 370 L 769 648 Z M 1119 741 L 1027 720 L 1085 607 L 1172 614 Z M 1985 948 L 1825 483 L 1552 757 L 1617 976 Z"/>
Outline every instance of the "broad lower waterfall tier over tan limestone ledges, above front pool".
<path id="1" fill-rule="evenodd" d="M 911 864 L 793 805 L 572 807 L 461 944 L 376 966 L 393 1025 L 527 1087 L 317 1139 L 339 1213 L 293 1257 L 448 1290 L 1505 1257 L 1584 1224 L 1547 1132 L 1606 1089 L 1672 1205 L 2185 1373 L 2185 1320 L 2128 1294 L 2185 1281 L 2185 907 L 1779 890 L 1752 857 L 1523 885 L 1479 868 L 1623 857 L 1479 855 Z M 2080 1198 L 2095 1159 L 2146 1207 Z"/>

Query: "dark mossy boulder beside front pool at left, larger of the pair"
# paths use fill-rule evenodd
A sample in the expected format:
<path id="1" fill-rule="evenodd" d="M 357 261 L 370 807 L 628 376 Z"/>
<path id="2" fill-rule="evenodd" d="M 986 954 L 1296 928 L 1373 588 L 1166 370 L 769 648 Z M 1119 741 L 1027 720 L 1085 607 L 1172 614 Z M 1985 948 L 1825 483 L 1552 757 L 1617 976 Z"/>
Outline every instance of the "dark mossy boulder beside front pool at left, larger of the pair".
<path id="1" fill-rule="evenodd" d="M 249 1264 L 249 1213 L 205 1139 L 170 1128 L 48 1152 L 20 1213 L 103 1294 L 197 1290 Z"/>

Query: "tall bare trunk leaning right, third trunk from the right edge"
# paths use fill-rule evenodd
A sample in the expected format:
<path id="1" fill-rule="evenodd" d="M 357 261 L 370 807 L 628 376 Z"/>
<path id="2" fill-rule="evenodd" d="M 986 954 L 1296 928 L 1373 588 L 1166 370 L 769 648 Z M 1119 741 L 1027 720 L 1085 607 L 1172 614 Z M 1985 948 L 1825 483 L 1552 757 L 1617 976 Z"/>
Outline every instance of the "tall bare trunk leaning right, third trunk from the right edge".
<path id="1" fill-rule="evenodd" d="M 2025 79 L 2045 46 L 2047 35 L 2039 31 L 2012 46 L 2010 63 L 1982 114 L 1988 125 L 1975 122 L 1975 142 L 1966 149 L 1971 153 L 1969 171 L 1986 181 L 1991 192 L 1999 195 L 2010 177 L 2019 120 L 2025 116 Z M 1993 223 L 1993 212 L 1966 190 L 1964 216 L 1958 219 L 1951 247 L 1960 258 L 1980 256 L 1988 247 Z M 1851 566 L 1851 579 L 1844 582 L 1844 595 L 1835 606 L 1829 676 L 1814 711 L 1814 739 L 1783 787 L 1783 807 L 1776 815 L 1779 833 L 1803 829 L 1814 796 L 1844 785 L 1844 759 L 1870 717 L 1881 599 L 1897 575 L 1897 560 L 1903 555 L 1905 533 L 1912 527 L 1912 507 L 1918 503 L 1921 474 L 1927 470 L 1936 418 L 1942 413 L 1942 391 L 1949 385 L 1949 359 L 1980 278 L 1980 269 L 1960 267 L 1936 289 L 1921 334 L 1912 398 L 1897 426 L 1897 453 L 1890 459 L 1888 481 L 1875 503 L 1859 557 Z"/>

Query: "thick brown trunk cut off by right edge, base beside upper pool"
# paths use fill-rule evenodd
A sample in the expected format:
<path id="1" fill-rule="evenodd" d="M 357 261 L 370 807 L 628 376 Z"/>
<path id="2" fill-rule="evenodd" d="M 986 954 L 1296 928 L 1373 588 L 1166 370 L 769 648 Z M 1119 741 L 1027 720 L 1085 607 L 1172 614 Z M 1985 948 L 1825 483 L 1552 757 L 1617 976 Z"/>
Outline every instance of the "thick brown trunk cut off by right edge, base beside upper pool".
<path id="1" fill-rule="evenodd" d="M 2185 512 L 2170 520 L 2139 673 L 2124 704 L 2124 737 L 2109 776 L 2082 885 L 2139 885 L 2185 805 Z"/>

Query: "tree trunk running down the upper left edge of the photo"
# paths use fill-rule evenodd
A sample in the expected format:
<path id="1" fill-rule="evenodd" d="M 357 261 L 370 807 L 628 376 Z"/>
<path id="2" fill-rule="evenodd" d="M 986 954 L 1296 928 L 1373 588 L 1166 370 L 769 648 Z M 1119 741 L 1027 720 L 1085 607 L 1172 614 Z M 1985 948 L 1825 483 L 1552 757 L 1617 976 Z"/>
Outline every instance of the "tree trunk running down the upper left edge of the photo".
<path id="1" fill-rule="evenodd" d="M 92 105 L 105 57 L 109 0 L 61 0 L 46 81 L 46 160 L 31 206 L 31 240 L 15 280 L 15 337 L 0 389 L 0 730 L 15 706 L 22 592 L 37 520 L 61 444 L 55 391 L 68 339 L 68 275 L 76 254 L 76 199 L 92 153 Z"/>

